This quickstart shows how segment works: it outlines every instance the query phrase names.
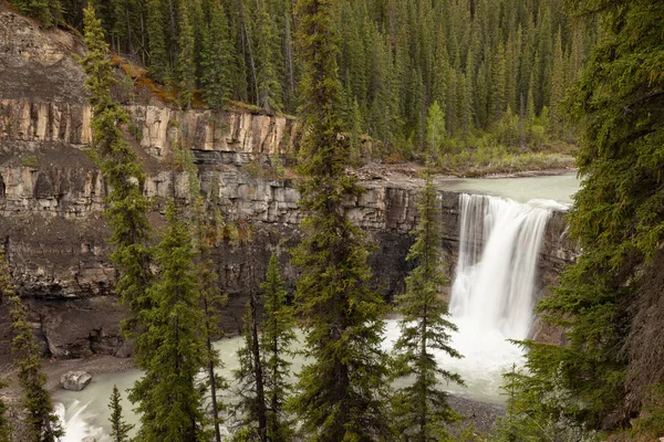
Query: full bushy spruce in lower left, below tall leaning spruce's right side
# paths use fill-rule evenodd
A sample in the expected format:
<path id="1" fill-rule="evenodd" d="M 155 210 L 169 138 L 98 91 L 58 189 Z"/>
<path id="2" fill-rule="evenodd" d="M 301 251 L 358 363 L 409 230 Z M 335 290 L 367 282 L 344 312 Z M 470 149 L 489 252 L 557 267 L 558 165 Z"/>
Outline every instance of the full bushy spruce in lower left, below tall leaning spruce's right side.
<path id="1" fill-rule="evenodd" d="M 147 295 L 155 306 L 144 312 L 149 328 L 139 336 L 155 349 L 143 358 L 145 375 L 129 393 L 141 413 L 138 440 L 195 442 L 206 436 L 203 392 L 197 375 L 206 367 L 204 322 L 199 309 L 191 235 L 173 201 L 166 207 L 167 228 L 155 259 L 158 280 Z"/>

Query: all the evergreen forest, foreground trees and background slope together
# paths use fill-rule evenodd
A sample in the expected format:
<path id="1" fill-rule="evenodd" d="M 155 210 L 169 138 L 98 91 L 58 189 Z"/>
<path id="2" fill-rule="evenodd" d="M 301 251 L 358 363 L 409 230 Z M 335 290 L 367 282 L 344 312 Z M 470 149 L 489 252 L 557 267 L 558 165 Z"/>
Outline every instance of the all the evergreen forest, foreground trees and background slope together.
<path id="1" fill-rule="evenodd" d="M 128 391 L 139 414 L 134 441 L 664 438 L 661 0 L 12 3 L 44 28 L 77 30 L 87 48 L 80 60 L 93 114 L 86 154 L 108 185 L 114 291 L 127 312 L 122 334 L 143 372 Z M 111 93 L 115 57 L 142 66 L 144 80 L 185 110 L 241 104 L 297 116 L 298 278 L 289 296 L 272 254 L 259 293 L 248 296 L 232 407 L 212 346 L 227 299 L 210 251 L 225 241 L 224 220 L 204 201 L 191 152 L 179 145 L 165 164 L 187 179 L 188 202 L 169 198 L 160 228 L 151 224 L 146 175 L 126 139 L 129 117 Z M 463 355 L 438 296 L 449 281 L 433 175 L 538 152 L 574 154 L 582 183 L 566 234 L 581 252 L 536 307 L 561 330 L 560 343 L 516 343 L 525 367 L 505 375 L 506 415 L 486 434 L 458 425 L 440 381 L 464 379 L 434 357 Z M 373 245 L 344 206 L 364 192 L 347 172 L 359 156 L 424 166 L 409 272 L 394 305 L 372 285 Z M 55 442 L 63 429 L 2 252 L 0 294 L 24 392 L 21 434 Z M 400 336 L 388 351 L 391 313 Z M 295 327 L 305 364 L 291 378 Z M 134 430 L 120 402 L 114 388 L 112 438 L 127 442 Z M 0 398 L 0 442 L 14 440 L 9 409 Z"/>

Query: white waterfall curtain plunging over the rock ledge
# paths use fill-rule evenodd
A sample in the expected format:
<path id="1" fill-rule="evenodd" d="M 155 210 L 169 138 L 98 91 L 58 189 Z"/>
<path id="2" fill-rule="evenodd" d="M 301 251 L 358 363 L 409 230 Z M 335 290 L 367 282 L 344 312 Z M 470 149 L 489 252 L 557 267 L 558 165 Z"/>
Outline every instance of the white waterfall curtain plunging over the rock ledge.
<path id="1" fill-rule="evenodd" d="M 449 312 L 477 334 L 528 337 L 539 252 L 551 210 L 461 194 L 459 259 Z"/>

